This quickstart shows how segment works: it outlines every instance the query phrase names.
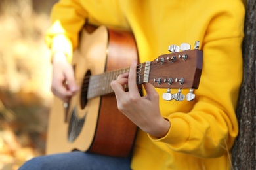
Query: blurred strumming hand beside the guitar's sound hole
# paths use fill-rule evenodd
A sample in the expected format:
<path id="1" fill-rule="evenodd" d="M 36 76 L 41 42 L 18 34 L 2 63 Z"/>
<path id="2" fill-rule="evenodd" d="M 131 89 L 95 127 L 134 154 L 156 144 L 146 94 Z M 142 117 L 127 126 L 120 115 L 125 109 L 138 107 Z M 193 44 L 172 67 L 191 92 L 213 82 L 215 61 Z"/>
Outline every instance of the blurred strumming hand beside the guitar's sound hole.
<path id="1" fill-rule="evenodd" d="M 51 91 L 62 101 L 68 102 L 78 90 L 72 65 L 68 63 L 63 52 L 57 52 L 53 56 Z"/>

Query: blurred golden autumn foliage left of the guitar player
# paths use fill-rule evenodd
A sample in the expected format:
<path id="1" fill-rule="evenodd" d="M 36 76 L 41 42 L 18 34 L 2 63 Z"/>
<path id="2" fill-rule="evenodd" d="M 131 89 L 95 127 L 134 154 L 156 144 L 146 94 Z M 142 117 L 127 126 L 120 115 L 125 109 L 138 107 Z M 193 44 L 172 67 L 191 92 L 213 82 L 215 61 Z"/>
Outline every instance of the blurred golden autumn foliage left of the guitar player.
<path id="1" fill-rule="evenodd" d="M 50 52 L 44 35 L 58 0 L 0 0 L 0 169 L 45 154 Z"/>

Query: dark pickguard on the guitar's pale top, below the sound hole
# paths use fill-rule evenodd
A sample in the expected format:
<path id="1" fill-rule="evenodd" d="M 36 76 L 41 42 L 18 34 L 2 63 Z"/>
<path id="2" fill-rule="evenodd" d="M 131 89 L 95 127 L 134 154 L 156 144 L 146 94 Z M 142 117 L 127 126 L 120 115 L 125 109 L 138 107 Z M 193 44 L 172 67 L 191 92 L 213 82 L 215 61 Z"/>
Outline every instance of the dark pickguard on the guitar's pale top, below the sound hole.
<path id="1" fill-rule="evenodd" d="M 85 114 L 86 116 L 86 114 Z M 68 126 L 68 141 L 72 143 L 81 133 L 83 128 L 83 124 L 85 123 L 85 116 L 83 118 L 79 118 L 77 116 L 76 107 L 72 109 L 72 114 L 70 118 L 70 124 Z"/>

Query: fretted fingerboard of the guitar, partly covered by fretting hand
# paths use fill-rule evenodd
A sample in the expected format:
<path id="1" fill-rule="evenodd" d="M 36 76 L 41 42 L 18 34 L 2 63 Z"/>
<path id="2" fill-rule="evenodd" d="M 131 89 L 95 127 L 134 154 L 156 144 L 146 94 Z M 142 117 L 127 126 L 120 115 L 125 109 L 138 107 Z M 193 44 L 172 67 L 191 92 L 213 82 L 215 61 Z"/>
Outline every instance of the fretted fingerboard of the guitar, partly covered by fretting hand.
<path id="1" fill-rule="evenodd" d="M 150 63 L 145 62 L 137 65 L 137 84 L 143 84 L 148 82 L 148 76 L 150 73 Z M 117 79 L 117 76 L 129 72 L 129 68 L 117 69 L 102 73 L 100 75 L 93 75 L 89 78 L 87 99 L 113 93 L 110 83 Z M 127 88 L 127 86 L 125 86 Z"/>

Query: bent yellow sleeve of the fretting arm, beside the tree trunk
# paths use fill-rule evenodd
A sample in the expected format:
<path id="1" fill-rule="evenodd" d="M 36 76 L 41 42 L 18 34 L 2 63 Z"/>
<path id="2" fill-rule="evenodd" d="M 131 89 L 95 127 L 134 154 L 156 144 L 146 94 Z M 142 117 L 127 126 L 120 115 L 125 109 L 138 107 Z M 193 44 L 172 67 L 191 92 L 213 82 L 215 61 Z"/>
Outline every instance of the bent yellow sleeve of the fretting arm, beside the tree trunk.
<path id="1" fill-rule="evenodd" d="M 200 158 L 228 152 L 238 135 L 236 105 L 242 82 L 244 6 L 216 8 L 203 38 L 203 70 L 196 101 L 189 112 L 165 115 L 171 122 L 167 135 L 155 142 Z M 189 104 L 188 104 L 189 105 Z"/>

